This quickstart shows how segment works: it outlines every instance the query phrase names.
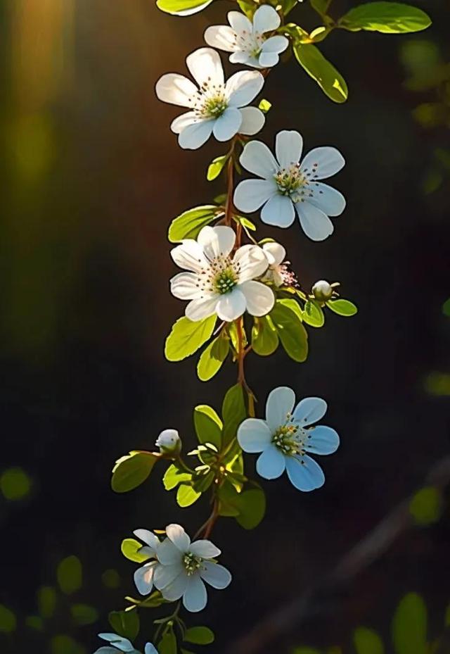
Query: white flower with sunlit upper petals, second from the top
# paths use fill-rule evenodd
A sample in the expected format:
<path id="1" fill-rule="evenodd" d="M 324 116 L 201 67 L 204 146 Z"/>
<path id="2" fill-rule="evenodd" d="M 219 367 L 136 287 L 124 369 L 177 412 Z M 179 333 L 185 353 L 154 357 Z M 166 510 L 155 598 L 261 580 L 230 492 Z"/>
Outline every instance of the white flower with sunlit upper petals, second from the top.
<path id="1" fill-rule="evenodd" d="M 198 87 L 184 75 L 167 73 L 156 84 L 156 94 L 163 102 L 188 107 L 175 118 L 171 130 L 179 134 L 182 148 L 200 148 L 211 134 L 218 141 L 229 141 L 235 134 L 256 134 L 264 125 L 264 114 L 248 107 L 264 84 L 256 70 L 240 70 L 225 83 L 219 54 L 200 48 L 188 55 L 186 65 Z"/>

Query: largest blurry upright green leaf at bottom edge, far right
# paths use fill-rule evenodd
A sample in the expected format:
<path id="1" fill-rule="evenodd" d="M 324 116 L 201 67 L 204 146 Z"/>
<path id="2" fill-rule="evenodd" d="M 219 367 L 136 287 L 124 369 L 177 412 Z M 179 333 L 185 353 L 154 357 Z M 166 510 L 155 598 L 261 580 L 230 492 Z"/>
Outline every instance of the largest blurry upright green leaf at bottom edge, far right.
<path id="1" fill-rule="evenodd" d="M 392 621 L 392 640 L 397 654 L 427 653 L 427 608 L 417 593 L 401 599 Z"/>

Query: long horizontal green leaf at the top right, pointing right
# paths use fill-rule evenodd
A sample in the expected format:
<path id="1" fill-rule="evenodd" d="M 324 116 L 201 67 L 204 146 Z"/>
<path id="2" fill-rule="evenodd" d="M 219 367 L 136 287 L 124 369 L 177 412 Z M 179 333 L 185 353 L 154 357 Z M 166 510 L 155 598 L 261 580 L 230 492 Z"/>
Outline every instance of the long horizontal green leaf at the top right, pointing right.
<path id="1" fill-rule="evenodd" d="M 368 2 L 350 9 L 338 26 L 350 32 L 366 30 L 385 34 L 420 32 L 430 27 L 431 19 L 418 7 L 399 2 Z"/>

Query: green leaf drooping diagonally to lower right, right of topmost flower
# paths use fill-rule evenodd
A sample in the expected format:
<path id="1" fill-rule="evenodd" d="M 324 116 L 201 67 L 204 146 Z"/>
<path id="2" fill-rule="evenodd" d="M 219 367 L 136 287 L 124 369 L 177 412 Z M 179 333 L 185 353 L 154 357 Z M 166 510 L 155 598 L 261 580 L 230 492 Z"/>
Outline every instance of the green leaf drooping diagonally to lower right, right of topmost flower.
<path id="1" fill-rule="evenodd" d="M 296 41 L 293 50 L 298 63 L 333 102 L 347 100 L 349 92 L 344 78 L 316 46 Z"/>

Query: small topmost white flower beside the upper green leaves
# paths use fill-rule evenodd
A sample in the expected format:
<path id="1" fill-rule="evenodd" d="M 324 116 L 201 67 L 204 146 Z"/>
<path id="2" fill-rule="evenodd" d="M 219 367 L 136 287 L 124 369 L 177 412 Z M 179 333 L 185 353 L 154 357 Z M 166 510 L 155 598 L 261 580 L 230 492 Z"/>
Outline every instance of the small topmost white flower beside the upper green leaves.
<path id="1" fill-rule="evenodd" d="M 231 25 L 212 25 L 205 32 L 208 45 L 231 52 L 231 63 L 243 63 L 254 68 L 269 68 L 278 63 L 279 54 L 288 47 L 286 37 L 266 34 L 280 26 L 275 9 L 263 4 L 253 16 L 253 22 L 239 11 L 229 11 Z"/>

